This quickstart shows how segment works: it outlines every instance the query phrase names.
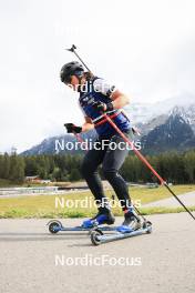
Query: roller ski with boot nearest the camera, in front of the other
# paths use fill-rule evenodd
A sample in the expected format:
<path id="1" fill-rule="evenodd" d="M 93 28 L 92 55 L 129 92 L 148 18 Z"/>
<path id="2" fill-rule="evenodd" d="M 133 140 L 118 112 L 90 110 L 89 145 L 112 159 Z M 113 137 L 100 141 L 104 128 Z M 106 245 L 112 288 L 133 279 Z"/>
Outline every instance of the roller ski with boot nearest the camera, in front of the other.
<path id="1" fill-rule="evenodd" d="M 122 225 L 114 229 L 114 233 L 104 234 L 103 231 L 94 229 L 91 231 L 91 242 L 93 245 L 100 245 L 102 243 L 150 233 L 152 233 L 152 223 L 146 221 L 140 212 L 137 214 L 135 210 L 131 208 L 125 212 Z"/>

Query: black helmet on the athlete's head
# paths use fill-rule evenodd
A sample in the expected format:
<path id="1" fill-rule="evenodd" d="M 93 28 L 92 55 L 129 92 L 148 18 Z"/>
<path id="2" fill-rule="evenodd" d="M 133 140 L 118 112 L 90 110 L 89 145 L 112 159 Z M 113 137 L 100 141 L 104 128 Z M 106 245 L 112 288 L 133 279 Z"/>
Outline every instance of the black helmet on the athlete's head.
<path id="1" fill-rule="evenodd" d="M 64 64 L 60 71 L 60 79 L 62 82 L 69 83 L 71 75 L 81 77 L 84 72 L 83 65 L 78 61 L 72 61 Z"/>

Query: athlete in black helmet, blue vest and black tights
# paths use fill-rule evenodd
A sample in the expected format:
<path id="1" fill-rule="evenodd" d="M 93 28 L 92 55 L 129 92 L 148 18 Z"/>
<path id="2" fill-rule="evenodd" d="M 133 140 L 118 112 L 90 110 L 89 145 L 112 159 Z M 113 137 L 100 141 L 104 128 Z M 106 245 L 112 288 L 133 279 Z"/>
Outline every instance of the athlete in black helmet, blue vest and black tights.
<path id="1" fill-rule="evenodd" d="M 84 221 L 82 225 L 84 228 L 92 228 L 96 224 L 110 225 L 115 220 L 105 196 L 101 178 L 98 174 L 98 168 L 102 164 L 104 178 L 115 191 L 124 212 L 122 225 L 129 226 L 130 230 L 138 229 L 141 219 L 131 203 L 127 185 L 119 173 L 129 150 L 127 148 L 119 148 L 121 142 L 124 143 L 124 140 L 102 115 L 102 113 L 106 113 L 127 138 L 132 138 L 130 120 L 122 111 L 122 108 L 129 104 L 130 99 L 114 85 L 107 84 L 105 80 L 93 77 L 91 72 L 85 72 L 82 64 L 76 61 L 64 64 L 60 78 L 63 83 L 80 93 L 79 104 L 85 118 L 82 127 L 73 123 L 64 124 L 68 133 L 81 133 L 95 129 L 99 135 L 96 142 L 102 143 L 109 140 L 106 146 L 105 143 L 102 143 L 104 148 L 89 150 L 82 162 L 82 175 L 99 206 L 98 214 Z M 116 148 L 111 148 L 111 143 L 112 145 L 115 143 Z"/>

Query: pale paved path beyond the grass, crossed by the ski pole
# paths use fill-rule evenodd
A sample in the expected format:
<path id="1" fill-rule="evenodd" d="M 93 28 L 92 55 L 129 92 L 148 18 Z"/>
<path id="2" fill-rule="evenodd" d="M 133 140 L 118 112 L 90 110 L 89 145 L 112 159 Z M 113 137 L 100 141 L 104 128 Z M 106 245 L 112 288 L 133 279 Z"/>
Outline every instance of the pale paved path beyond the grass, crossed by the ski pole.
<path id="1" fill-rule="evenodd" d="M 186 205 L 186 206 L 195 206 L 195 191 L 186 192 L 182 195 L 178 195 L 178 199 Z M 148 206 L 165 206 L 165 208 L 178 208 L 181 204 L 177 202 L 174 196 L 168 199 L 151 202 L 143 205 L 144 208 Z"/>

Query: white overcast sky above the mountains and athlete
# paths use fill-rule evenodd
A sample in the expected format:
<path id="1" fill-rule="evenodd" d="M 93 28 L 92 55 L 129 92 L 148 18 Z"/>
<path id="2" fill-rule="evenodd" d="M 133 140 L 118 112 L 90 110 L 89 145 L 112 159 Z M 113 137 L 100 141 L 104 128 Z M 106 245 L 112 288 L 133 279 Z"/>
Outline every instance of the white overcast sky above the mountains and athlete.
<path id="1" fill-rule="evenodd" d="M 59 79 L 72 43 L 133 102 L 195 94 L 194 11 L 194 0 L 0 0 L 0 152 L 82 122 Z"/>

